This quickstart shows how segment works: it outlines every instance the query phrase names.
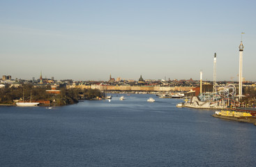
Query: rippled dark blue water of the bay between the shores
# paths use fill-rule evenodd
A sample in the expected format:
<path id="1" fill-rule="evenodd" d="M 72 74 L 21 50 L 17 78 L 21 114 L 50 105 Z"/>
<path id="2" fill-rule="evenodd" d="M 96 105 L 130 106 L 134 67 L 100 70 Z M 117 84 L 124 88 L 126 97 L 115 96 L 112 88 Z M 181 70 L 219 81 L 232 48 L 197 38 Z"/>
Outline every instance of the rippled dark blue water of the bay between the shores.
<path id="1" fill-rule="evenodd" d="M 0 107 L 0 166 L 255 166 L 256 127 L 182 100 Z M 146 100 L 153 97 L 156 102 Z"/>

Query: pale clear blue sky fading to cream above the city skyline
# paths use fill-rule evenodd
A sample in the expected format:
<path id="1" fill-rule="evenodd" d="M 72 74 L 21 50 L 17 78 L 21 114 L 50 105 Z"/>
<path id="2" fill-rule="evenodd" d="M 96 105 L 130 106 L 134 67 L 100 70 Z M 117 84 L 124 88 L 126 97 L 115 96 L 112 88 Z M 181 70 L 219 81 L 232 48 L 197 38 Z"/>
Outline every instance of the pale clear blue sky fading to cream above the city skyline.
<path id="1" fill-rule="evenodd" d="M 256 81 L 256 1 L 0 1 L 0 76 Z"/>

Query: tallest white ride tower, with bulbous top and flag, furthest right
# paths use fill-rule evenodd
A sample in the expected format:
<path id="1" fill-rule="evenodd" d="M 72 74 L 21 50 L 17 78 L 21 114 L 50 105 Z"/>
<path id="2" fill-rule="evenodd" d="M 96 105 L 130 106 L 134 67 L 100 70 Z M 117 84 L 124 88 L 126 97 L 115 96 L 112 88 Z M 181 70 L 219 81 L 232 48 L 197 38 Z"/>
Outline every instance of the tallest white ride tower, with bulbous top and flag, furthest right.
<path id="1" fill-rule="evenodd" d="M 243 95 L 243 33 L 241 33 L 241 43 L 239 45 L 239 100 Z"/>

